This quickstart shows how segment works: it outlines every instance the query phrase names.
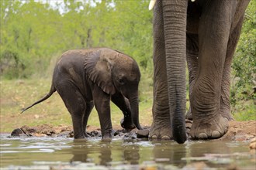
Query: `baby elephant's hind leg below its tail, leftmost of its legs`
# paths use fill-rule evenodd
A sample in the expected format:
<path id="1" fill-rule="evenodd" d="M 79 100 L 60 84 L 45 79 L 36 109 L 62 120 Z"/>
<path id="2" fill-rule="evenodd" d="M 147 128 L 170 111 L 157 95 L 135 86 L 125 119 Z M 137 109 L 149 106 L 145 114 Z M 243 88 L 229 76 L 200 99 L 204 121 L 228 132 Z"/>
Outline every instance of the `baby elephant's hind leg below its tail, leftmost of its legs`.
<path id="1" fill-rule="evenodd" d="M 85 128 L 83 125 L 83 117 L 85 114 L 85 100 L 79 90 L 68 81 L 59 83 L 57 92 L 60 94 L 64 101 L 67 110 L 71 114 L 74 139 L 85 138 Z"/>

